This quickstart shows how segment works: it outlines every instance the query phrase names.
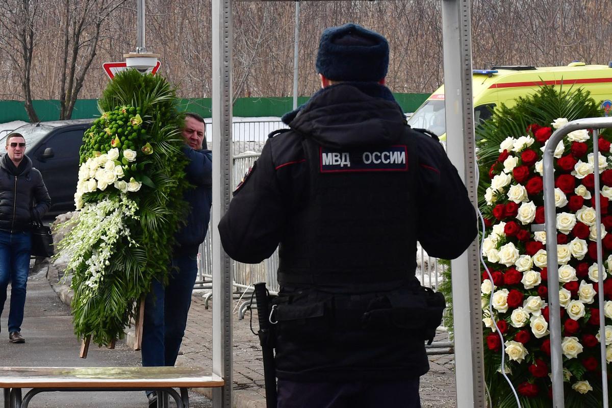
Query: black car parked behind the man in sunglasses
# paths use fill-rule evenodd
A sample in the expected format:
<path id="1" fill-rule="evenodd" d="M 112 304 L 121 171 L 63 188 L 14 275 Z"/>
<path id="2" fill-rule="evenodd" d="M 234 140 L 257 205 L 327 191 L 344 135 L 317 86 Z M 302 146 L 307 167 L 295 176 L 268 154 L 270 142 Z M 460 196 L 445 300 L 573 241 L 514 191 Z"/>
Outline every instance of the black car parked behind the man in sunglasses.
<path id="1" fill-rule="evenodd" d="M 83 133 L 94 119 L 26 124 L 13 132 L 26 139 L 26 155 L 39 169 L 51 196 L 51 209 L 45 218 L 75 210 L 79 149 Z M 6 153 L 6 136 L 0 139 L 0 153 Z"/>

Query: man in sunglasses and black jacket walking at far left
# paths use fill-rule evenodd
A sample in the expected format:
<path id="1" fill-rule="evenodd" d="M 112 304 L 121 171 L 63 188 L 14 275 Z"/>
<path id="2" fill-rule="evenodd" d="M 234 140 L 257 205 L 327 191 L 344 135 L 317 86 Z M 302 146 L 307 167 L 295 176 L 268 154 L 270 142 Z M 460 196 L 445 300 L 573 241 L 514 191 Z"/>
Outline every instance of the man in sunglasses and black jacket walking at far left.
<path id="1" fill-rule="evenodd" d="M 42 218 L 51 198 L 40 171 L 25 155 L 20 133 L 6 138 L 7 154 L 0 159 L 0 316 L 11 282 L 9 341 L 25 343 L 21 336 L 26 284 L 30 266 L 32 221 Z"/>

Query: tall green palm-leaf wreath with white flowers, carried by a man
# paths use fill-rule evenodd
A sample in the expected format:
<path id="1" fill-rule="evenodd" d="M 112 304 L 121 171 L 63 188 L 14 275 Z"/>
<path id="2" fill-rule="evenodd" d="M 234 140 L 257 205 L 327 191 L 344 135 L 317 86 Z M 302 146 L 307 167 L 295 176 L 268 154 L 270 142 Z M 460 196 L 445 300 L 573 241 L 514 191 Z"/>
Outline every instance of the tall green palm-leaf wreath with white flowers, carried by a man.
<path id="1" fill-rule="evenodd" d="M 78 217 L 59 243 L 74 291 L 75 333 L 99 345 L 122 338 L 152 279 L 167 280 L 186 204 L 183 117 L 162 76 L 118 73 L 84 133 Z"/>

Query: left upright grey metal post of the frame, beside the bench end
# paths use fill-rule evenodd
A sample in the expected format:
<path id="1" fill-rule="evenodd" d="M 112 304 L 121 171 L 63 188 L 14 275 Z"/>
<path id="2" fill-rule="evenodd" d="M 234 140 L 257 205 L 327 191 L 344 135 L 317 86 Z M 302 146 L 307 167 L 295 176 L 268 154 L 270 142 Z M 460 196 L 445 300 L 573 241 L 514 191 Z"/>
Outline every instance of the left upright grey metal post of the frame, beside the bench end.
<path id="1" fill-rule="evenodd" d="M 232 118 L 232 0 L 212 0 L 212 373 L 225 380 L 213 388 L 212 406 L 231 408 L 233 388 L 230 257 L 217 225 L 230 206 Z"/>

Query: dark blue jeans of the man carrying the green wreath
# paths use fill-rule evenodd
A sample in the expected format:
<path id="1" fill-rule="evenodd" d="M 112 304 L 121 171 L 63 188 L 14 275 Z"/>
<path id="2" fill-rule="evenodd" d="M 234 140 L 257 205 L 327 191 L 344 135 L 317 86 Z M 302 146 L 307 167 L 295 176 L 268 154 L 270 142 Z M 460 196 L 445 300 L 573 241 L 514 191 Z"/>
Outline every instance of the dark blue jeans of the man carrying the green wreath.
<path id="1" fill-rule="evenodd" d="M 143 366 L 174 366 L 187 326 L 193 284 L 198 275 L 196 256 L 172 259 L 170 283 L 154 280 L 144 301 Z M 177 269 L 176 269 L 177 268 Z"/>

